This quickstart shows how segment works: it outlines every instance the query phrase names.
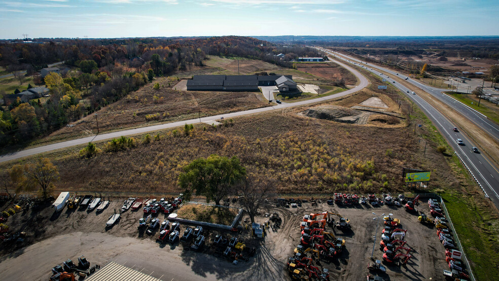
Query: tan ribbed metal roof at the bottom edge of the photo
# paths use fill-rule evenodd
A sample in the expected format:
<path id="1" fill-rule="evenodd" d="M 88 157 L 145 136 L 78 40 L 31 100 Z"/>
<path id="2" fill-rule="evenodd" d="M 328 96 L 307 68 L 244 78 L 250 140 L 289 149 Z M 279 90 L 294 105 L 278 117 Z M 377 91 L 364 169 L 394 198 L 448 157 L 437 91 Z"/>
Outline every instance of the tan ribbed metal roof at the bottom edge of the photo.
<path id="1" fill-rule="evenodd" d="M 126 281 L 161 281 L 146 273 L 139 272 L 115 262 L 110 262 L 90 275 L 86 281 L 108 281 L 108 280 L 126 280 Z"/>

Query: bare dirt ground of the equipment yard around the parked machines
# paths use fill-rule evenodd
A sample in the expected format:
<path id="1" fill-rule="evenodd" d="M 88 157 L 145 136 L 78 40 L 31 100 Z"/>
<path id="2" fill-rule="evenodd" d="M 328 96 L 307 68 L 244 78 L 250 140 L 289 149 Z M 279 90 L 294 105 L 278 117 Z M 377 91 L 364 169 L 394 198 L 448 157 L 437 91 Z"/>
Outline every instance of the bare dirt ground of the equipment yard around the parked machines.
<path id="1" fill-rule="evenodd" d="M 269 230 L 268 236 L 257 241 L 250 239 L 248 233 L 235 234 L 239 239 L 244 239 L 248 247 L 257 247 L 257 254 L 247 262 L 232 265 L 224 258 L 213 256 L 212 238 L 218 231 L 207 230 L 205 235 L 208 242 L 202 253 L 186 251 L 182 243 L 173 245 L 155 242 L 157 232 L 152 236 L 140 234 L 137 231 L 137 221 L 144 214 L 139 212 L 126 212 L 123 219 L 113 228 L 105 230 L 104 223 L 114 212 L 114 208 L 121 206 L 121 200 L 114 201 L 102 214 L 96 215 L 95 211 L 87 213 L 86 210 L 63 209 L 60 216 L 52 216 L 52 209 L 43 210 L 34 218 L 28 214 L 15 215 L 10 221 L 12 226 L 22 223 L 23 229 L 28 232 L 28 241 L 36 243 L 17 249 L 8 254 L 3 252 L 0 257 L 0 271 L 5 280 L 14 279 L 48 279 L 50 268 L 61 263 L 67 258 L 76 259 L 84 254 L 91 264 L 105 264 L 115 261 L 126 266 L 142 270 L 142 272 L 160 277 L 163 280 L 182 279 L 198 280 L 200 277 L 208 280 L 289 280 L 287 274 L 287 260 L 299 243 L 300 221 L 303 215 L 311 212 L 324 212 L 329 210 L 350 219 L 352 231 L 343 233 L 335 231 L 337 237 L 346 240 L 346 249 L 338 259 L 331 262 L 321 261 L 320 265 L 330 270 L 331 280 L 360 280 L 365 278 L 368 271 L 373 245 L 372 235 L 375 232 L 376 222 L 373 221 L 375 212 L 378 215 L 393 213 L 399 218 L 404 229 L 407 229 L 405 240 L 413 249 L 413 258 L 407 266 L 388 267 L 388 272 L 383 277 L 387 280 L 423 280 L 441 279 L 441 269 L 445 268 L 444 248 L 440 244 L 435 229 L 421 226 L 417 217 L 406 213 L 404 209 L 389 208 L 387 206 L 371 207 L 358 206 L 344 208 L 329 206 L 325 203 L 311 207 L 304 203 L 298 208 L 272 208 L 283 219 L 277 232 Z M 423 202 L 420 208 L 425 210 L 427 205 Z M 426 210 L 427 211 L 427 210 Z M 264 212 L 262 212 L 264 213 Z M 427 212 L 429 213 L 429 212 Z M 16 217 L 17 216 L 17 217 Z M 159 216 L 163 219 L 163 215 Z M 263 222 L 267 218 L 257 217 Z M 29 227 L 28 227 L 29 226 Z M 18 228 L 18 227 L 15 227 Z M 38 236 L 33 238 L 33 229 L 38 229 Z M 185 226 L 181 226 L 181 232 Z M 374 257 L 381 258 L 381 251 L 377 246 L 381 235 L 382 226 L 379 226 Z M 331 231 L 331 229 L 329 228 Z M 234 233 L 222 233 L 231 235 Z M 30 264 L 30 270 L 24 270 L 24 265 Z M 167 264 L 168 266 L 164 266 Z"/>

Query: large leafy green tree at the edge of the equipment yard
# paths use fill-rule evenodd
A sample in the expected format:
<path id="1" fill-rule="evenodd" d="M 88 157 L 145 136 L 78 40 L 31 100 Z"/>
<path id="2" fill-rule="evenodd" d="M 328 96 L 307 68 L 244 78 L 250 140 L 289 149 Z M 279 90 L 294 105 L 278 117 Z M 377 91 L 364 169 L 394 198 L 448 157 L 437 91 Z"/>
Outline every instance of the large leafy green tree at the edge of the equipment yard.
<path id="1" fill-rule="evenodd" d="M 216 154 L 208 158 L 198 158 L 184 167 L 179 175 L 179 185 L 185 189 L 186 200 L 192 192 L 204 195 L 206 201 L 215 201 L 225 198 L 234 185 L 238 184 L 246 175 L 246 169 L 241 166 L 237 157 L 227 158 Z"/>

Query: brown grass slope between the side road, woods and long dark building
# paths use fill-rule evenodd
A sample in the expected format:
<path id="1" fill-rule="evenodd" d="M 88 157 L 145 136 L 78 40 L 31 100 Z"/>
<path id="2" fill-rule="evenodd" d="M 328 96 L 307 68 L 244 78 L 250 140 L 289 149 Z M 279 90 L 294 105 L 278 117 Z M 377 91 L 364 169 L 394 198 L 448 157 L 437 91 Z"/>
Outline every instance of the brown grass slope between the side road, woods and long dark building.
<path id="1" fill-rule="evenodd" d="M 159 83 L 159 90 L 153 89 Z M 260 92 L 199 92 L 176 91 L 167 88 L 176 81 L 161 78 L 150 83 L 127 97 L 110 104 L 97 112 L 99 131 L 151 125 L 158 122 L 174 122 L 236 112 L 268 106 L 261 101 Z M 155 97 L 158 100 L 155 102 Z M 91 114 L 53 132 L 41 142 L 55 141 L 66 137 L 87 136 L 97 132 L 95 115 Z"/>

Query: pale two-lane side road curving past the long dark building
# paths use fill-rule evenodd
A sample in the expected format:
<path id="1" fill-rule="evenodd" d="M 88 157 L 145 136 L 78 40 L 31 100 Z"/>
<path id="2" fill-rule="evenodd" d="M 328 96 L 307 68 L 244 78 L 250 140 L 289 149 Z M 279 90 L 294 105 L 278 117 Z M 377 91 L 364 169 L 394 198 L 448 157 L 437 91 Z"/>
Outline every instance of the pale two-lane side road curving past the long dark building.
<path id="1" fill-rule="evenodd" d="M 297 102 L 286 102 L 286 103 L 277 104 L 276 106 L 272 106 L 272 107 L 239 111 L 239 112 L 233 112 L 233 113 L 228 113 L 228 114 L 203 117 L 200 119 L 198 118 L 198 119 L 184 120 L 184 121 L 179 121 L 179 122 L 174 122 L 174 123 L 166 123 L 166 124 L 141 127 L 141 128 L 129 129 L 129 130 L 121 130 L 121 131 L 116 131 L 116 132 L 112 132 L 112 133 L 97 134 L 97 135 L 93 135 L 93 136 L 73 139 L 71 141 L 65 141 L 65 142 L 50 144 L 50 145 L 46 145 L 46 146 L 25 149 L 25 150 L 16 151 L 16 152 L 12 152 L 12 153 L 0 156 L 0 162 L 15 160 L 15 159 L 19 159 L 22 157 L 40 154 L 40 153 L 44 153 L 44 152 L 49 152 L 49 151 L 53 151 L 53 150 L 57 150 L 57 149 L 61 149 L 61 148 L 67 148 L 67 147 L 72 147 L 72 146 L 77 146 L 77 145 L 84 145 L 84 144 L 87 144 L 89 142 L 97 142 L 97 141 L 103 141 L 105 139 L 117 138 L 117 137 L 120 137 L 122 135 L 126 136 L 126 135 L 142 134 L 142 133 L 147 133 L 147 132 L 152 132 L 152 131 L 157 131 L 157 130 L 180 127 L 180 126 L 184 126 L 186 123 L 187 124 L 197 124 L 197 123 L 201 123 L 201 122 L 211 122 L 214 120 L 215 121 L 220 120 L 221 117 L 224 117 L 224 119 L 227 119 L 227 118 L 232 118 L 232 117 L 237 117 L 237 116 L 250 115 L 250 114 L 262 113 L 262 112 L 269 112 L 272 110 L 281 110 L 284 108 L 303 106 L 304 104 L 311 104 L 311 103 L 315 103 L 315 102 L 319 102 L 319 101 L 323 101 L 323 100 L 328 100 L 328 99 L 333 99 L 333 98 L 337 98 L 340 96 L 349 95 L 351 93 L 362 90 L 363 88 L 365 88 L 368 85 L 368 83 L 369 83 L 368 80 L 364 76 L 362 76 L 358 71 L 356 71 L 354 68 L 352 68 L 344 63 L 338 63 L 338 64 L 345 67 L 350 72 L 352 72 L 355 76 L 357 76 L 360 80 L 359 85 L 357 85 L 354 88 L 351 88 L 347 91 L 337 93 L 334 95 L 320 97 L 320 98 L 302 100 L 302 101 L 297 101 Z"/>

